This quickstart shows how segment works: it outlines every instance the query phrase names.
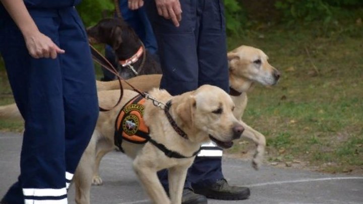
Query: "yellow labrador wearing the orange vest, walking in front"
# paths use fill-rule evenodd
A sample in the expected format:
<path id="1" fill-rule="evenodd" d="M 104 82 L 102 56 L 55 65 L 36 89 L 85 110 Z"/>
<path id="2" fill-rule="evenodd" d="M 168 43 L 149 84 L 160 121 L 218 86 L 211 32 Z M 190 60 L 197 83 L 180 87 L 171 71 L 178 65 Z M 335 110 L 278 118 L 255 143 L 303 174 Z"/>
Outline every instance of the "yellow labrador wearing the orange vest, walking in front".
<path id="1" fill-rule="evenodd" d="M 114 149 L 115 131 L 119 133 L 115 120 L 119 118 L 120 110 L 130 113 L 125 120 L 120 120 L 123 129 L 132 130 L 128 126 L 131 123 L 142 126 L 142 122 L 131 114 L 131 110 L 134 110 L 135 114 L 143 112 L 144 122 L 150 130 L 148 140 L 142 144 L 131 140 L 130 134 L 136 133 L 128 132 L 122 142 L 116 140 L 117 146 L 133 159 L 136 175 L 153 203 L 181 203 L 187 170 L 201 144 L 212 140 L 221 148 L 230 148 L 232 140 L 240 138 L 244 131 L 242 123 L 233 115 L 235 107 L 232 99 L 218 87 L 204 85 L 178 96 L 171 96 L 159 89 L 153 89 L 149 94 L 166 105 L 158 107 L 150 99 L 144 101 L 143 107 L 129 103 L 138 97 L 138 93 L 125 90 L 117 107 L 100 112 L 91 141 L 75 173 L 77 203 L 90 203 L 96 155 L 99 151 L 109 152 Z M 118 96 L 118 90 L 100 91 L 99 104 L 111 106 L 116 103 Z M 156 174 L 162 169 L 168 169 L 169 172 L 170 199 Z"/>

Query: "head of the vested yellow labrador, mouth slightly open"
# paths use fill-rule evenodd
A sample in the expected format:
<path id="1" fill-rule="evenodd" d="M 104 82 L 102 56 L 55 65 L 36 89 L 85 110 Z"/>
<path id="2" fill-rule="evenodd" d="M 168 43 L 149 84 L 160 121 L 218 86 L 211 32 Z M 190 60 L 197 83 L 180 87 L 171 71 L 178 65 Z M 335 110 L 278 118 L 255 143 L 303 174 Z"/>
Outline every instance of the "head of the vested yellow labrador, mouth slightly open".
<path id="1" fill-rule="evenodd" d="M 203 85 L 193 92 L 178 96 L 178 99 L 174 110 L 185 127 L 202 132 L 189 134 L 191 141 L 205 142 L 210 139 L 221 148 L 230 148 L 232 140 L 240 138 L 244 131 L 242 124 L 233 115 L 232 99 L 216 86 Z"/>

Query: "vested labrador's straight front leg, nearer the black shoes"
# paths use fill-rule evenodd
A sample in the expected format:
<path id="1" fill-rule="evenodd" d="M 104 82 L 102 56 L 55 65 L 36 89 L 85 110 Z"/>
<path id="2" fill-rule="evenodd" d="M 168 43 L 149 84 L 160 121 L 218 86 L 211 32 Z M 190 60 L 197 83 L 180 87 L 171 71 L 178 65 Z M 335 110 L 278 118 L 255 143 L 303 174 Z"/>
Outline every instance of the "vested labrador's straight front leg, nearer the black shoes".
<path id="1" fill-rule="evenodd" d="M 181 203 L 181 195 L 183 194 L 184 182 L 187 176 L 188 166 L 175 166 L 169 168 L 169 195 L 172 204 Z"/>

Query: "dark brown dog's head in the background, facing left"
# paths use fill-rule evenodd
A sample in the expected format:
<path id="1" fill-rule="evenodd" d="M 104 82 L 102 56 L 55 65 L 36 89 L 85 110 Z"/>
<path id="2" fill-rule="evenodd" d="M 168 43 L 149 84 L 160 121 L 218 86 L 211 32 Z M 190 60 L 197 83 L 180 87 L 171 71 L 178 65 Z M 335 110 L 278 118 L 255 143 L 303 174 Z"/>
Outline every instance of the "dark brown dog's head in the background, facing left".
<path id="1" fill-rule="evenodd" d="M 87 35 L 91 43 L 104 43 L 113 50 L 119 49 L 125 40 L 139 40 L 134 30 L 122 18 L 102 19 L 95 26 L 87 28 Z"/>

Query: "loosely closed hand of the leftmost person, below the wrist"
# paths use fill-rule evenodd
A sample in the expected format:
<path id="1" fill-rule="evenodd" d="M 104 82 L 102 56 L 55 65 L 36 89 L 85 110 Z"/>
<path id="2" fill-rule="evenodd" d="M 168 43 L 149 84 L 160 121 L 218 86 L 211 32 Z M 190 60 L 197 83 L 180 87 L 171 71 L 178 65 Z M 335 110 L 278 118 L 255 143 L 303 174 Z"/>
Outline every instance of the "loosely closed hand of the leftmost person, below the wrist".
<path id="1" fill-rule="evenodd" d="M 29 54 L 34 58 L 55 59 L 57 54 L 65 53 L 65 50 L 59 48 L 49 37 L 39 31 L 25 34 L 24 39 Z"/>

